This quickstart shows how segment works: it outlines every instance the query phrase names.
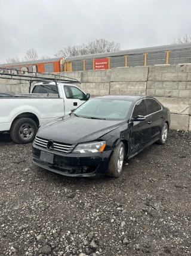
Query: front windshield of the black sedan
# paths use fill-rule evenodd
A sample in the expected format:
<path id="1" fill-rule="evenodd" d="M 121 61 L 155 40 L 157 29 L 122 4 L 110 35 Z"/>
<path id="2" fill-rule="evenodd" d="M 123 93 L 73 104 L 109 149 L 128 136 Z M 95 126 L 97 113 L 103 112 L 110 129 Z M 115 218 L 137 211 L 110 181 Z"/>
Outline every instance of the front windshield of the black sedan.
<path id="1" fill-rule="evenodd" d="M 73 114 L 80 118 L 122 120 L 130 110 L 131 101 L 92 99 L 84 103 Z"/>

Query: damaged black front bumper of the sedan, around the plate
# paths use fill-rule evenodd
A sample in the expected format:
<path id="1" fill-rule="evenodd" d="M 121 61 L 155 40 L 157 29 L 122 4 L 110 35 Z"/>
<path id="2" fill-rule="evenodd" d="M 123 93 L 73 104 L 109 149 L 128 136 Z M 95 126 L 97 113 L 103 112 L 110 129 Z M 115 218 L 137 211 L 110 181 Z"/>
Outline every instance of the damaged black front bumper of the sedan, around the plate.
<path id="1" fill-rule="evenodd" d="M 68 153 L 63 154 L 54 150 L 42 149 L 32 145 L 33 163 L 54 173 L 71 177 L 104 176 L 107 171 L 112 150 L 97 153 Z M 53 154 L 50 162 L 42 161 L 41 152 Z"/>

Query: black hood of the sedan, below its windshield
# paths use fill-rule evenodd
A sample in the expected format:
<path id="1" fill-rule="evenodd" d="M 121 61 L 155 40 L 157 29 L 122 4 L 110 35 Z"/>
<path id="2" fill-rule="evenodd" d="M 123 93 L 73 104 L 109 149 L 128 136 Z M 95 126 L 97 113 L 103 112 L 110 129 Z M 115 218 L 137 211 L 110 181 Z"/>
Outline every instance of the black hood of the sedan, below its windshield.
<path id="1" fill-rule="evenodd" d="M 124 121 L 107 121 L 99 119 L 64 116 L 41 127 L 38 137 L 60 143 L 78 144 L 94 141 L 104 134 L 121 127 Z"/>

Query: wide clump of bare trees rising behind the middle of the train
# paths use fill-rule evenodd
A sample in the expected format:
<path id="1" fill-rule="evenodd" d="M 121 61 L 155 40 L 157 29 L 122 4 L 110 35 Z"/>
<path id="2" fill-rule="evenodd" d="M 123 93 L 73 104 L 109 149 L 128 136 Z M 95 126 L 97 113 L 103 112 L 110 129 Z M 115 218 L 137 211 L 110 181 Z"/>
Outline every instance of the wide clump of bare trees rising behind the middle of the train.
<path id="1" fill-rule="evenodd" d="M 66 57 L 66 56 L 79 56 L 79 55 L 88 55 L 94 53 L 104 53 L 104 52 L 114 52 L 120 50 L 121 45 L 118 42 L 110 42 L 106 39 L 96 39 L 87 44 L 82 44 L 80 46 L 67 46 L 62 50 L 58 50 L 55 53 L 57 57 Z"/>

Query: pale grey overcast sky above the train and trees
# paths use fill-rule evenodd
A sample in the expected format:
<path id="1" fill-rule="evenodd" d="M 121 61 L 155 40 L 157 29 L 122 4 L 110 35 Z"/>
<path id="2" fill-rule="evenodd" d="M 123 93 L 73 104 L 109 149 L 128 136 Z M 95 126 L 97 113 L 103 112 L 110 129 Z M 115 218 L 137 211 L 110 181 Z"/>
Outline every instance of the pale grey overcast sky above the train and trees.
<path id="1" fill-rule="evenodd" d="M 96 38 L 124 50 L 170 44 L 191 34 L 190 11 L 190 0 L 0 0 L 0 62 Z"/>

